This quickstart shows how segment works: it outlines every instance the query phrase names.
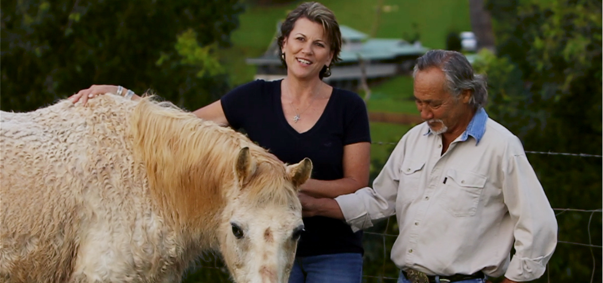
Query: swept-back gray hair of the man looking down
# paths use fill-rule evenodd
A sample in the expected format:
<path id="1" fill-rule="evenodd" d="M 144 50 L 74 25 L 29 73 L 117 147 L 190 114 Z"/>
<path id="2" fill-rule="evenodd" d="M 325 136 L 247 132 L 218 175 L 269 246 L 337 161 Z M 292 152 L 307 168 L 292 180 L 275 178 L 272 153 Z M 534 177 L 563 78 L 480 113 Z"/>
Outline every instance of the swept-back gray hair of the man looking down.
<path id="1" fill-rule="evenodd" d="M 456 51 L 430 50 L 417 59 L 412 77 L 421 70 L 437 67 L 446 75 L 446 86 L 456 99 L 464 90 L 471 90 L 469 104 L 475 109 L 484 107 L 488 101 L 486 78 L 473 73 L 473 67 L 465 55 Z"/>

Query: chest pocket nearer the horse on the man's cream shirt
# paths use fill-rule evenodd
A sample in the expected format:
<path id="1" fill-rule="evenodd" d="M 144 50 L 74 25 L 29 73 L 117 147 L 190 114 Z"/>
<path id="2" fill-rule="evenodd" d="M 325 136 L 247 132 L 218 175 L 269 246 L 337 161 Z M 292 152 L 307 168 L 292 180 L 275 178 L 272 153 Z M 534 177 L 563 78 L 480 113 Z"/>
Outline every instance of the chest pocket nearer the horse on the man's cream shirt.
<path id="1" fill-rule="evenodd" d="M 424 161 L 416 161 L 406 158 L 400 166 L 399 187 L 397 202 L 406 204 L 413 201 L 421 190 L 421 175 L 423 175 Z"/>

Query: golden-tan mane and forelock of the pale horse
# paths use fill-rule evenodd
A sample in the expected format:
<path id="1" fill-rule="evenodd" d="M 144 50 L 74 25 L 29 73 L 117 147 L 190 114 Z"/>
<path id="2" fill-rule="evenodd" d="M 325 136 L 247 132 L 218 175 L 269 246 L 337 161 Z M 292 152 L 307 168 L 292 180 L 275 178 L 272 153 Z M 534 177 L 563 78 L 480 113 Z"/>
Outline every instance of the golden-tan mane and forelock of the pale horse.
<path id="1" fill-rule="evenodd" d="M 147 167 L 153 194 L 180 224 L 202 220 L 226 201 L 220 188 L 233 187 L 235 163 L 248 147 L 256 170 L 244 190 L 255 205 L 291 204 L 297 197 L 285 166 L 245 135 L 199 119 L 166 102 L 142 99 L 131 115 L 134 152 Z M 212 209 L 213 208 L 213 209 Z"/>

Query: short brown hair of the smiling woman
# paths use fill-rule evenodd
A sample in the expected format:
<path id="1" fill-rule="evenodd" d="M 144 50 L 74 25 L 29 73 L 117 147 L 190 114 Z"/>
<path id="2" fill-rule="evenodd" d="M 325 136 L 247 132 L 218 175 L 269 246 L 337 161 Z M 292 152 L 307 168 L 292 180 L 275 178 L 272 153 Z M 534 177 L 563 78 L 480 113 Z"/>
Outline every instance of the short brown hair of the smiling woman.
<path id="1" fill-rule="evenodd" d="M 329 10 L 329 8 L 324 7 L 323 4 L 318 2 L 303 2 L 301 5 L 297 6 L 295 10 L 291 11 L 280 25 L 280 34 L 277 38 L 279 43 L 279 56 L 280 60 L 283 62 L 283 65 L 286 67 L 287 64 L 285 60 L 282 58 L 282 50 L 283 50 L 283 42 L 286 37 L 291 34 L 293 30 L 293 26 L 295 22 L 305 17 L 306 19 L 311 20 L 315 23 L 320 23 L 323 25 L 324 32 L 327 34 L 327 40 L 329 40 L 329 47 L 331 51 L 333 51 L 333 60 L 329 64 L 329 67 L 333 66 L 333 63 L 336 63 L 341 60 L 339 58 L 339 52 L 341 52 L 341 31 L 339 31 L 339 23 L 337 23 L 337 19 L 335 19 L 335 14 L 333 11 Z M 326 73 L 327 66 L 324 66 L 318 76 L 320 79 L 326 78 L 330 75 Z"/>

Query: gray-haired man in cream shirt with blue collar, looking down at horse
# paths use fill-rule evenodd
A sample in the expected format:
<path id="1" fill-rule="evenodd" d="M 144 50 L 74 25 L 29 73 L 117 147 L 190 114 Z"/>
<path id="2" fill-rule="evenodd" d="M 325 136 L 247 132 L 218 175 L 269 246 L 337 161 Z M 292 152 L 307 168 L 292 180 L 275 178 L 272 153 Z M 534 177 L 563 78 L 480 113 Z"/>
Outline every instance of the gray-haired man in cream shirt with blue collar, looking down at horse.
<path id="1" fill-rule="evenodd" d="M 402 137 L 373 188 L 302 194 L 305 215 L 344 219 L 356 231 L 395 213 L 398 282 L 539 278 L 557 221 L 522 143 L 485 113 L 485 79 L 464 55 L 433 50 L 417 60 L 414 96 L 425 122 Z"/>

